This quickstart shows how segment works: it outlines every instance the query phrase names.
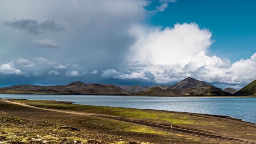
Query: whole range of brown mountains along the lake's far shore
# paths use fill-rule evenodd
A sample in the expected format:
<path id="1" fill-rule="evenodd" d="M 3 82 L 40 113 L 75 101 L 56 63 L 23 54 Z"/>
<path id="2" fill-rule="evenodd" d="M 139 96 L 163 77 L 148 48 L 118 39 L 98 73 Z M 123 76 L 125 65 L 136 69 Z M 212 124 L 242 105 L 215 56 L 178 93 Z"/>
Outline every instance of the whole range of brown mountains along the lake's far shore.
<path id="1" fill-rule="evenodd" d="M 194 78 L 184 80 L 170 85 L 156 86 L 134 86 L 94 84 L 92 82 L 72 82 L 67 85 L 37 86 L 37 85 L 15 85 L 0 88 L 2 94 L 139 94 L 139 95 L 197 95 L 197 96 L 247 96 L 256 95 L 256 80 L 236 90 L 226 88 L 222 90 L 212 84 Z"/>

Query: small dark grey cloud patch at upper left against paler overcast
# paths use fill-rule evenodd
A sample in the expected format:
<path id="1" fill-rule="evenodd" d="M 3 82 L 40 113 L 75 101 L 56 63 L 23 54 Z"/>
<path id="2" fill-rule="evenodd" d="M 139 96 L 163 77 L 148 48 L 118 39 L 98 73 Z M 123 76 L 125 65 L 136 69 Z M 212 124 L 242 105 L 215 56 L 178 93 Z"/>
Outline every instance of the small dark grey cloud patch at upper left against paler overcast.
<path id="1" fill-rule="evenodd" d="M 26 30 L 31 34 L 40 34 L 42 32 L 60 32 L 64 31 L 64 26 L 55 24 L 54 21 L 45 20 L 44 22 L 37 22 L 36 20 L 12 20 L 4 22 L 6 26 Z"/>

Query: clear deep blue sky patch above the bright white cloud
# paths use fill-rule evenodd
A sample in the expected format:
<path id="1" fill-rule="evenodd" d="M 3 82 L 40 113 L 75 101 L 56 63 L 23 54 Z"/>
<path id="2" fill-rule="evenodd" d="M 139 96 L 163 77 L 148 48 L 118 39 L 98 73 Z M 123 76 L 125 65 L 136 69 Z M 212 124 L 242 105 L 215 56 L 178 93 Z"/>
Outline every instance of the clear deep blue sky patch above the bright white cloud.
<path id="1" fill-rule="evenodd" d="M 156 2 L 154 4 L 157 5 Z M 256 48 L 256 9 L 254 0 L 177 0 L 150 18 L 150 24 L 172 26 L 196 22 L 212 32 L 210 55 L 236 62 L 250 58 Z"/>

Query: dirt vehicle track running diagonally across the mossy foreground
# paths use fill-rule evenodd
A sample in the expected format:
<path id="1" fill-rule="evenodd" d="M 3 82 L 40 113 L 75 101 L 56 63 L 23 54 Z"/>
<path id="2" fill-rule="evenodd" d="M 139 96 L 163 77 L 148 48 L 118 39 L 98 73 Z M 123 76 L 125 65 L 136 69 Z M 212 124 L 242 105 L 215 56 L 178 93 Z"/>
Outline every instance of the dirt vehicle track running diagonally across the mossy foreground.
<path id="1" fill-rule="evenodd" d="M 29 107 L 29 108 L 35 108 L 35 109 L 40 109 L 40 110 L 47 110 L 47 111 L 53 111 L 53 112 L 62 112 L 62 113 L 68 113 L 68 114 L 78 114 L 78 115 L 84 115 L 84 116 L 95 116 L 95 117 L 98 117 L 98 118 L 108 118 L 108 119 L 112 119 L 112 120 L 130 122 L 130 123 L 134 123 L 134 124 L 140 124 L 140 125 L 144 125 L 144 126 L 151 126 L 151 127 L 154 127 L 154 128 L 160 128 L 160 129 L 168 130 L 168 131 L 172 131 L 172 132 L 178 132 L 178 133 L 182 133 L 182 134 L 189 134 L 189 135 L 192 135 L 192 136 L 212 138 L 212 139 L 216 139 L 216 140 L 224 140 L 224 141 L 228 141 L 228 142 L 236 142 L 236 143 L 241 143 L 241 144 L 256 144 L 255 142 L 249 142 L 249 141 L 240 140 L 240 139 L 237 139 L 237 138 L 229 138 L 229 137 L 220 136 L 220 135 L 216 135 L 216 134 L 210 134 L 210 133 L 206 133 L 206 132 L 199 132 L 199 131 L 196 131 L 196 130 L 188 130 L 188 129 L 185 129 L 185 128 L 177 128 L 176 126 L 168 126 L 168 125 L 164 125 L 164 124 L 155 124 L 155 123 L 151 123 L 151 122 L 143 122 L 143 121 L 138 121 L 138 120 L 130 120 L 130 119 L 122 118 L 122 117 L 118 117 L 118 116 L 108 116 L 108 115 L 104 115 L 104 114 L 93 114 L 93 113 L 86 113 L 86 112 L 74 112 L 74 111 L 68 111 L 68 110 L 40 108 L 40 107 L 30 106 L 30 105 L 22 104 L 22 103 L 18 103 L 18 102 L 10 102 L 10 101 L 7 101 L 7 100 L 4 100 L 4 101 L 12 103 L 12 104 L 18 104 L 20 106 L 26 106 L 26 107 Z"/>

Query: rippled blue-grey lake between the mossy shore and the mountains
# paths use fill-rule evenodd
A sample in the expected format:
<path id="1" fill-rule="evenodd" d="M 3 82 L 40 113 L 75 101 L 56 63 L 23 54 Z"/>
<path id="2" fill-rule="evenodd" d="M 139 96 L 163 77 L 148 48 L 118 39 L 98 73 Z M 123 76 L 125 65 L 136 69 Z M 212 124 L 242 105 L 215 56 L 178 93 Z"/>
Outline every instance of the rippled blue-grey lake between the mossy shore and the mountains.
<path id="1" fill-rule="evenodd" d="M 223 97 L 136 97 L 95 95 L 12 95 L 0 94 L 0 98 L 22 98 L 28 100 L 60 100 L 75 104 L 112 106 L 193 112 L 232 116 L 256 123 L 256 98 Z"/>

